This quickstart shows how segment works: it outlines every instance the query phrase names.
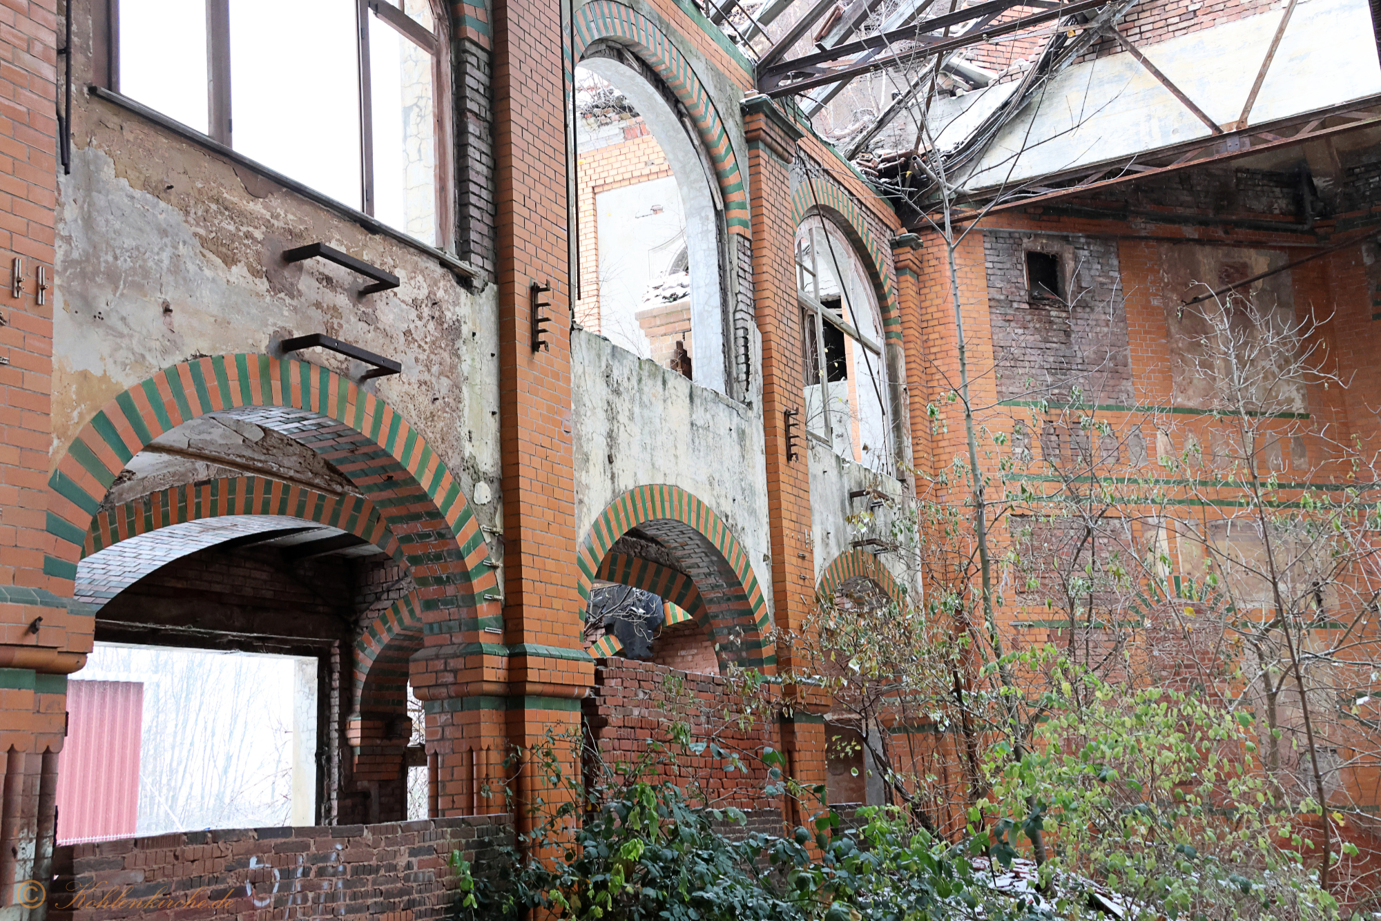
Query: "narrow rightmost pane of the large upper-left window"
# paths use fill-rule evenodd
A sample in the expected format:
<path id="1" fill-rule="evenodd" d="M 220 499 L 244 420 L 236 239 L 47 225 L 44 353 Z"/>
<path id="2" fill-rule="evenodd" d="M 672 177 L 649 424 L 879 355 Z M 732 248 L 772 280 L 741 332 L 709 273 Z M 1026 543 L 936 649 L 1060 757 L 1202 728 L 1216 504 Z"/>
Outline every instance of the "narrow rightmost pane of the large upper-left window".
<path id="1" fill-rule="evenodd" d="M 374 217 L 436 242 L 436 122 L 432 58 L 369 15 L 374 115 Z"/>

